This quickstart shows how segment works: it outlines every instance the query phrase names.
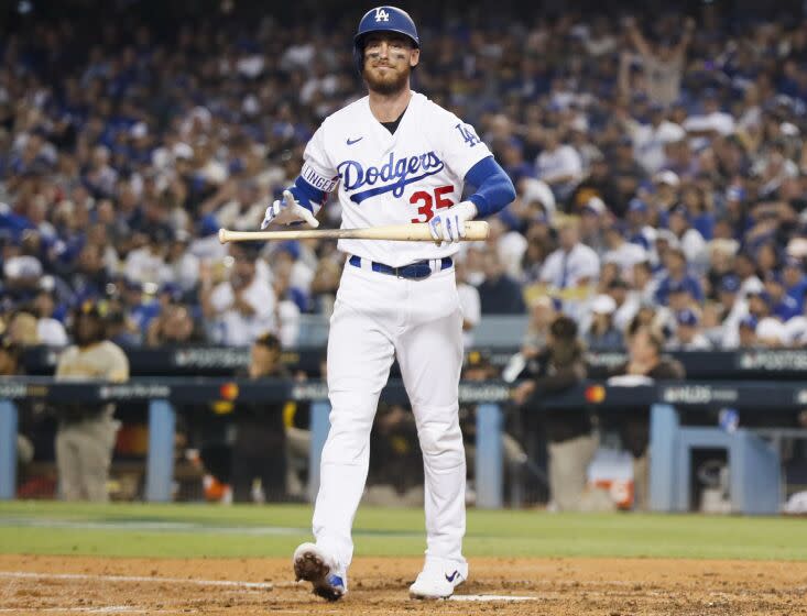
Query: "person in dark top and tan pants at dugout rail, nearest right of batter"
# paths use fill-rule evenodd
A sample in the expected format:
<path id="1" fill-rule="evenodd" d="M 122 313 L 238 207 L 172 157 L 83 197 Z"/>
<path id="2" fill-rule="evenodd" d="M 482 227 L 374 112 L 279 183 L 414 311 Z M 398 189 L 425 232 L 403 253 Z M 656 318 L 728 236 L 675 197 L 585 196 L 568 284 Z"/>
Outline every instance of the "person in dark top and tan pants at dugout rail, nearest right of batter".
<path id="1" fill-rule="evenodd" d="M 586 378 L 582 344 L 577 326 L 561 315 L 549 328 L 547 345 L 538 354 L 536 372 L 515 389 L 513 399 L 544 426 L 549 453 L 549 507 L 559 512 L 579 510 L 587 484 L 587 470 L 597 438 L 586 408 L 550 410 L 542 408 L 544 397 L 564 392 Z M 532 422 L 531 421 L 531 422 Z"/>

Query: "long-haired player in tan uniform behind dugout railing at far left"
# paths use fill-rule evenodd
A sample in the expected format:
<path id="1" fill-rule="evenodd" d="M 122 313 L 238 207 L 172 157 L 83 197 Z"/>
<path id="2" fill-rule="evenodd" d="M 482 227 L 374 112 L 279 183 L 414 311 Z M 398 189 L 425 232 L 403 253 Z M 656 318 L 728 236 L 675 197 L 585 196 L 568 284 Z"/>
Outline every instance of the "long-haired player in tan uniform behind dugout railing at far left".
<path id="1" fill-rule="evenodd" d="M 86 301 L 76 314 L 74 339 L 56 366 L 57 381 L 129 380 L 129 360 L 106 338 L 105 304 Z M 65 501 L 106 502 L 109 465 L 120 426 L 111 404 L 66 404 L 59 408 L 56 465 Z"/>

